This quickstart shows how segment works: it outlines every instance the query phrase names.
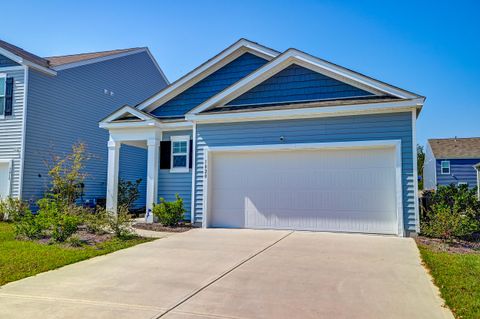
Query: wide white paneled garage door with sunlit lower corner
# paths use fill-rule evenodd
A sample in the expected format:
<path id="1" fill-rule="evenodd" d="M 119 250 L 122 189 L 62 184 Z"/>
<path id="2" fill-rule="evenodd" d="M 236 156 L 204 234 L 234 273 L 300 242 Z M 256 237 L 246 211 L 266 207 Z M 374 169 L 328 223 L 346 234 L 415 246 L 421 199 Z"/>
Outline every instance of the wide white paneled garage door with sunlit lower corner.
<path id="1" fill-rule="evenodd" d="M 210 227 L 397 234 L 395 149 L 214 152 Z"/>

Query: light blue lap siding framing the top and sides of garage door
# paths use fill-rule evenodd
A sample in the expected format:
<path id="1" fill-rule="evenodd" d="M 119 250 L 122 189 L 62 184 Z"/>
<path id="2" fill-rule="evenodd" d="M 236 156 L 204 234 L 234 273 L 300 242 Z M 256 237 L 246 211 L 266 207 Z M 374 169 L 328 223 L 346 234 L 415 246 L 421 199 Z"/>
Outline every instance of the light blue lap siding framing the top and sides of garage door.
<path id="1" fill-rule="evenodd" d="M 202 221 L 203 148 L 284 143 L 368 140 L 402 141 L 402 186 L 405 229 L 415 231 L 412 114 L 390 113 L 317 119 L 198 124 L 195 176 L 195 220 Z"/>

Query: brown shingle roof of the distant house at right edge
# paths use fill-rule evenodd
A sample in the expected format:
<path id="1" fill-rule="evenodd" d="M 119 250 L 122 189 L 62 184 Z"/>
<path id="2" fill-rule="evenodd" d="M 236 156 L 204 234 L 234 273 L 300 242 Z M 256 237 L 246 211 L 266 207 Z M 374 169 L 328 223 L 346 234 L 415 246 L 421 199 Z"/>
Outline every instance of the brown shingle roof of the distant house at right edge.
<path id="1" fill-rule="evenodd" d="M 480 137 L 429 139 L 437 159 L 480 158 Z"/>

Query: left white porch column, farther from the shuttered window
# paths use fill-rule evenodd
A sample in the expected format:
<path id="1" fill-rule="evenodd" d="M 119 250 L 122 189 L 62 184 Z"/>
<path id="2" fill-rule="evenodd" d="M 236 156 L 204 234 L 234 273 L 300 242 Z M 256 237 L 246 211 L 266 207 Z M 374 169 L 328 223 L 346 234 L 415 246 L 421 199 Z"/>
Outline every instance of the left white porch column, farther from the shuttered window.
<path id="1" fill-rule="evenodd" d="M 118 141 L 112 139 L 108 141 L 107 211 L 115 214 L 117 213 L 120 145 Z"/>

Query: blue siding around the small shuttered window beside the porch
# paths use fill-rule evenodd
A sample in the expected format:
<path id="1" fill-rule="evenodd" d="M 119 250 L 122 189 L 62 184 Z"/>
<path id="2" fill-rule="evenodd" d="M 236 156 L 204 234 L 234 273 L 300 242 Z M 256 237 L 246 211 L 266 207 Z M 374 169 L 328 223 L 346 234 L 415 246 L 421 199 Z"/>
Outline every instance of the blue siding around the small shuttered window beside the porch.
<path id="1" fill-rule="evenodd" d="M 192 131 L 163 132 L 162 140 L 170 141 L 170 137 L 188 135 L 192 138 Z M 190 220 L 192 203 L 192 170 L 188 173 L 170 173 L 169 169 L 161 169 L 158 173 L 158 197 L 167 201 L 175 199 L 175 194 L 180 195 L 187 210 L 184 218 Z"/>

